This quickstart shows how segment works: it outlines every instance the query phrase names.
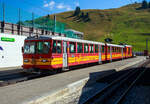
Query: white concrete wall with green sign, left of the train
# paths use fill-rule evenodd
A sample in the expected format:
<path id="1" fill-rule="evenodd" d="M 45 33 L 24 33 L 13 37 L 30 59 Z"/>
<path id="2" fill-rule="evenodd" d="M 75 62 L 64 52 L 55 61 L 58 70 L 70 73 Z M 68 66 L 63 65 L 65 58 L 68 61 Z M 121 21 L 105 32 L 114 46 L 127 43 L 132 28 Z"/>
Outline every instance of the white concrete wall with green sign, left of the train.
<path id="1" fill-rule="evenodd" d="M 1 37 L 14 38 L 14 42 L 1 41 Z M 16 67 L 23 64 L 22 46 L 26 36 L 0 33 L 0 68 Z"/>

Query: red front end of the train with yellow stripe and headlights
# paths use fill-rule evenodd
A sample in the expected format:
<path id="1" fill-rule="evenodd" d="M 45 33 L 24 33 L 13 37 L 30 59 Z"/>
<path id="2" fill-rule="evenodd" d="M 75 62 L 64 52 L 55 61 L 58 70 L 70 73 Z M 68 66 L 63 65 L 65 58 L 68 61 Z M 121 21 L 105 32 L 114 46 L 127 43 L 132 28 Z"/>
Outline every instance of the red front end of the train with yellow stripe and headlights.
<path id="1" fill-rule="evenodd" d="M 23 69 L 37 71 L 49 69 L 51 40 L 26 39 L 23 48 Z"/>

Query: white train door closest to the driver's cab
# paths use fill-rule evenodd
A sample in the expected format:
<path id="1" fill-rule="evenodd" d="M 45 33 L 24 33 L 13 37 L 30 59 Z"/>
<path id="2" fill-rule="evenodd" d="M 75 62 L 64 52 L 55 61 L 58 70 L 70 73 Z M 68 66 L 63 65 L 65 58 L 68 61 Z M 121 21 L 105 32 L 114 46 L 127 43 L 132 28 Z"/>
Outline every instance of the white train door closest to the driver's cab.
<path id="1" fill-rule="evenodd" d="M 67 58 L 67 42 L 63 41 L 63 68 L 68 67 L 68 58 Z"/>

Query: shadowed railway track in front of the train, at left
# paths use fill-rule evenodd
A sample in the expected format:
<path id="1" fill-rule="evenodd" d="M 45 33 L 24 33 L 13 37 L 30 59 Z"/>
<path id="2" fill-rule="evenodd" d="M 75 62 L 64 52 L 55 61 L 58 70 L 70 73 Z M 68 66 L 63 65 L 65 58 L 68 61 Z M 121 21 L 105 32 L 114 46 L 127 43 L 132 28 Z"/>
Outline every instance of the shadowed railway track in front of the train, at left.
<path id="1" fill-rule="evenodd" d="M 49 75 L 56 74 L 56 72 L 48 72 L 48 73 L 26 73 L 22 69 L 14 70 L 14 71 L 4 71 L 0 73 L 0 87 L 8 86 L 11 84 L 16 84 L 18 82 L 28 81 L 35 78 L 42 78 Z"/>

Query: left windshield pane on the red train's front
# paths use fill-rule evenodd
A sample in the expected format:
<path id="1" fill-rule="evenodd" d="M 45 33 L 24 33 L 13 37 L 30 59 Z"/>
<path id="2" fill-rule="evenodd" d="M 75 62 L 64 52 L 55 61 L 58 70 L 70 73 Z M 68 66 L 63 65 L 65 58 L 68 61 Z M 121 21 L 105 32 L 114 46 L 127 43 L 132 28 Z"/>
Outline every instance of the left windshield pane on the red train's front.
<path id="1" fill-rule="evenodd" d="M 25 54 L 34 54 L 35 53 L 35 42 L 26 42 L 24 46 Z"/>

